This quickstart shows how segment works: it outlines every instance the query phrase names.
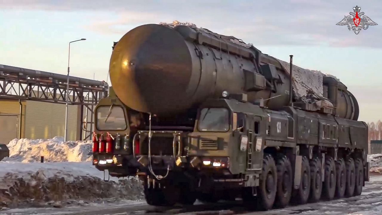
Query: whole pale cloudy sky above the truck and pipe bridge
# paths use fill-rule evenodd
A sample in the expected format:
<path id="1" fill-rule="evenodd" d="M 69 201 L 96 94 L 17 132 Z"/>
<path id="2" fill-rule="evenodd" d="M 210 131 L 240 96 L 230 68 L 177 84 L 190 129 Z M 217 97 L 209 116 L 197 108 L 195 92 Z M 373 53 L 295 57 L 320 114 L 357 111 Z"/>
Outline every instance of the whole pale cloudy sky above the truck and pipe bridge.
<path id="1" fill-rule="evenodd" d="M 359 120 L 382 119 L 379 0 L 0 0 L 0 64 L 107 80 L 113 42 L 147 23 L 190 22 L 252 43 L 263 53 L 338 77 Z M 338 26 L 358 5 L 378 25 L 356 35 Z M 361 17 L 362 18 L 362 17 Z M 110 79 L 109 79 L 110 84 Z"/>

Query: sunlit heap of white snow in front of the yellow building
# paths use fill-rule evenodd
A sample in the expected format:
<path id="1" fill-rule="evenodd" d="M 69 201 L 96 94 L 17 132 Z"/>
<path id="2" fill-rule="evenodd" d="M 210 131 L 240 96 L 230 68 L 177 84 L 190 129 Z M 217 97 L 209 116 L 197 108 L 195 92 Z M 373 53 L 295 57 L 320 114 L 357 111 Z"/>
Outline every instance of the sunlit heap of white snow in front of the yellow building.
<path id="1" fill-rule="evenodd" d="M 9 158 L 3 161 L 19 161 L 23 163 L 40 162 L 40 156 L 44 156 L 47 162 L 62 161 L 91 161 L 91 141 L 64 142 L 63 137 L 52 139 L 13 139 L 7 147 Z"/>

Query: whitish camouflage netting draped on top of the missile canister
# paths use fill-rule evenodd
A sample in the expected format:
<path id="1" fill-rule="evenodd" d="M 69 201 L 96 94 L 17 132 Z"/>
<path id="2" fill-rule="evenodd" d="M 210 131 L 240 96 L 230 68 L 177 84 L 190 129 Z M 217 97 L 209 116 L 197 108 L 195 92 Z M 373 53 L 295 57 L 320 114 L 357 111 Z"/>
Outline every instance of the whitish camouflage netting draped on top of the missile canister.
<path id="1" fill-rule="evenodd" d="M 224 36 L 221 34 L 214 33 L 212 31 L 209 31 L 208 29 L 205 28 L 198 28 L 195 24 L 193 23 L 181 23 L 179 21 L 173 21 L 173 23 L 159 23 L 161 25 L 165 25 L 169 28 L 175 28 L 178 25 L 186 25 L 189 26 L 196 31 L 202 31 L 204 33 L 212 34 L 218 38 L 221 38 L 225 41 L 230 41 L 235 44 L 238 44 L 240 46 L 246 47 L 246 48 L 251 48 L 253 47 L 253 44 L 251 43 L 245 43 L 241 39 L 237 39 L 236 37 L 233 36 Z M 276 58 L 275 58 L 276 59 Z M 284 70 L 289 74 L 289 63 L 276 59 L 280 62 L 280 64 L 283 66 Z M 320 71 L 317 70 L 309 70 L 309 69 L 304 69 L 301 67 L 298 67 L 296 65 L 292 66 L 293 68 L 293 88 L 296 93 L 296 96 L 300 98 L 301 96 L 306 96 L 307 90 L 312 90 L 314 93 L 316 93 L 319 96 L 323 95 L 323 87 L 322 87 L 322 78 L 326 76 L 325 74 L 321 73 Z M 332 75 L 327 75 L 330 77 L 333 77 Z M 335 78 L 335 77 L 334 77 Z M 336 78 L 336 80 L 338 80 Z M 329 101 L 327 101 L 330 103 Z M 332 106 L 328 104 L 328 106 Z"/>

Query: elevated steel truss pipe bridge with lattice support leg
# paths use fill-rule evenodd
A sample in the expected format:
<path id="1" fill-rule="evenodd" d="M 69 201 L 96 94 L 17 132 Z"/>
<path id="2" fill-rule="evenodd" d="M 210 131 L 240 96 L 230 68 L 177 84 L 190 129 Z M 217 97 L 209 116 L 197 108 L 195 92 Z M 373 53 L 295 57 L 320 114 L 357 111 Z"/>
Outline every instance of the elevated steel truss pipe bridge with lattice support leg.
<path id="1" fill-rule="evenodd" d="M 70 105 L 81 108 L 79 138 L 90 139 L 94 106 L 108 95 L 108 84 L 70 76 L 66 92 L 66 81 L 66 75 L 0 64 L 0 98 L 66 104 L 68 96 Z"/>

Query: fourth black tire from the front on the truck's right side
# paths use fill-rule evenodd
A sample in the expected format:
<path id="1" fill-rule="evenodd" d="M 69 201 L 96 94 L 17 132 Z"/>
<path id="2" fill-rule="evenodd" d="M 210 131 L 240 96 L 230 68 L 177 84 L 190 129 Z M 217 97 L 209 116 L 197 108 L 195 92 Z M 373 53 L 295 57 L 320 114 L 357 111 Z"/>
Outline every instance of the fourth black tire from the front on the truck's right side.
<path id="1" fill-rule="evenodd" d="M 311 170 L 311 189 L 309 193 L 309 202 L 318 202 L 322 192 L 322 164 L 317 157 L 310 161 Z"/>

